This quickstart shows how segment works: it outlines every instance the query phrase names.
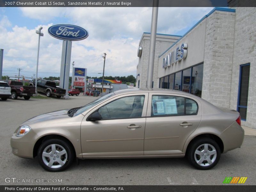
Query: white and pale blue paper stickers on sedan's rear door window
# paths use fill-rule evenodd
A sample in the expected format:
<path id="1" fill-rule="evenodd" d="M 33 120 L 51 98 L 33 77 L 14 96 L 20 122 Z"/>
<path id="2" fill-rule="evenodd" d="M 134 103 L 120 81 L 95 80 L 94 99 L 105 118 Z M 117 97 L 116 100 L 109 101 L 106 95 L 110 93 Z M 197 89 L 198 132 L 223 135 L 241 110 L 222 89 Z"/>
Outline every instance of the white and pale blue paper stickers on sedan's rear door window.
<path id="1" fill-rule="evenodd" d="M 176 99 L 152 100 L 154 115 L 178 114 Z"/>

